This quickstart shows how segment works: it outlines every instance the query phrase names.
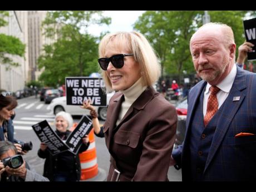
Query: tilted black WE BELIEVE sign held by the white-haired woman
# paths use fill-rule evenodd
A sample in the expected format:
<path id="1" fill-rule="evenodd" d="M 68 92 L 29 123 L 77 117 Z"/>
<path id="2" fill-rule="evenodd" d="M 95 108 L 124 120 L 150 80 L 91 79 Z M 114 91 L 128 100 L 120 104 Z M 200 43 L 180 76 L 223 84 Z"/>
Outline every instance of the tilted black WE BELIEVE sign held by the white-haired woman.
<path id="1" fill-rule="evenodd" d="M 76 126 L 75 130 L 68 136 L 66 144 L 70 147 L 70 151 L 77 154 L 81 144 L 82 138 L 88 135 L 92 129 L 92 121 L 87 117 L 83 116 Z"/>

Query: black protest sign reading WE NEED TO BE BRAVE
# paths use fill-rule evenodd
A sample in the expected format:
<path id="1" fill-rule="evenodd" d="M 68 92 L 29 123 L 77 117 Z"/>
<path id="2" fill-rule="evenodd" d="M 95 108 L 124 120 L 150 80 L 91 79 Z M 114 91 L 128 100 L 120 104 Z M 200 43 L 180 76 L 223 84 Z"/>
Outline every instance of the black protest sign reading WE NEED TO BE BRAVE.
<path id="1" fill-rule="evenodd" d="M 107 95 L 102 90 L 105 83 L 102 78 L 66 77 L 67 105 L 82 105 L 91 100 L 93 106 L 107 106 Z"/>

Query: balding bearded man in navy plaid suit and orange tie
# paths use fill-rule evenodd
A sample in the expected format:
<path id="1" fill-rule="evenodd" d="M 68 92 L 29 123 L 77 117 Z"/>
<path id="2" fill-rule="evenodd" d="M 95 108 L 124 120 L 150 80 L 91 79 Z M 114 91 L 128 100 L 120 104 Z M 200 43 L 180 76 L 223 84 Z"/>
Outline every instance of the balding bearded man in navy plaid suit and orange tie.
<path id="1" fill-rule="evenodd" d="M 188 94 L 186 134 L 170 165 L 183 181 L 255 181 L 256 74 L 235 65 L 231 27 L 206 23 L 190 39 L 203 78 Z"/>

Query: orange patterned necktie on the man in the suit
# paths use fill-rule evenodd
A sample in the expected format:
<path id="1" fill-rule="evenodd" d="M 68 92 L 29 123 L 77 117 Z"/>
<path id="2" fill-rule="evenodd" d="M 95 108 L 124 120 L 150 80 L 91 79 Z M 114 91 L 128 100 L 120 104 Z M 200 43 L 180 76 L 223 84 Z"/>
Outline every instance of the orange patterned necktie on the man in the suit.
<path id="1" fill-rule="evenodd" d="M 215 87 L 215 86 L 210 87 L 210 96 L 208 98 L 207 110 L 204 116 L 205 127 L 209 123 L 211 118 L 214 116 L 214 114 L 218 111 L 219 104 L 218 104 L 216 94 L 219 92 L 219 90 L 220 89 L 218 87 Z"/>

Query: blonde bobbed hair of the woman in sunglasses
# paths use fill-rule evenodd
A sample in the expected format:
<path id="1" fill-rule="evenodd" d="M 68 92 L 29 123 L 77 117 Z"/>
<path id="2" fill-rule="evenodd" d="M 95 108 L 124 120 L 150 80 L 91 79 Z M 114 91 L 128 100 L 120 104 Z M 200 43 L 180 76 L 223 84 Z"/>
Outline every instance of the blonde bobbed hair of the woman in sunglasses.
<path id="1" fill-rule="evenodd" d="M 106 57 L 106 46 L 109 42 L 114 42 L 120 51 L 122 48 L 126 48 L 130 51 L 128 53 L 134 54 L 134 60 L 140 67 L 144 86 L 152 86 L 158 80 L 161 66 L 149 41 L 141 33 L 135 31 L 108 33 L 102 38 L 99 45 L 100 58 Z M 101 70 L 101 73 L 107 90 L 111 91 L 111 81 L 107 77 L 107 71 Z"/>

